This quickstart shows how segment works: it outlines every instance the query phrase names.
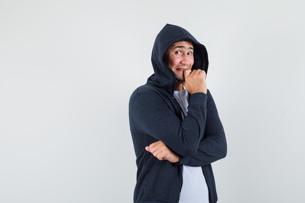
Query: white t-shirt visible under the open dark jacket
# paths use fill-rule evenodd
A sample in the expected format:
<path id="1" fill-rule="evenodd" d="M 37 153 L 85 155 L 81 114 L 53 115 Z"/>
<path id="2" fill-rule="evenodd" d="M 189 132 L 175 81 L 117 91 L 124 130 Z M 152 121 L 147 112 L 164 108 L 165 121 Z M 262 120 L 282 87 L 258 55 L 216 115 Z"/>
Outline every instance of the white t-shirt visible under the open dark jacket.
<path id="1" fill-rule="evenodd" d="M 183 87 L 184 88 L 184 87 Z M 174 91 L 182 111 L 182 117 L 188 113 L 189 94 L 185 90 Z M 182 188 L 179 203 L 209 203 L 209 190 L 200 166 L 186 166 L 182 168 Z"/>

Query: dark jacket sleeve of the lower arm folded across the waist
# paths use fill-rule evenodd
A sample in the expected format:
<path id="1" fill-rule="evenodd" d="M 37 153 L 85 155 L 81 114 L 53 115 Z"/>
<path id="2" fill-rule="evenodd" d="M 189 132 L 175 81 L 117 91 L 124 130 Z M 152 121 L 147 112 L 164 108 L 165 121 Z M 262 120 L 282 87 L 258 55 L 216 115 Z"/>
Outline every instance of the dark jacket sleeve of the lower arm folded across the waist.
<path id="1" fill-rule="evenodd" d="M 227 141 L 215 102 L 210 93 L 207 101 L 207 120 L 205 134 L 194 155 L 181 156 L 178 164 L 205 166 L 227 155 Z"/>

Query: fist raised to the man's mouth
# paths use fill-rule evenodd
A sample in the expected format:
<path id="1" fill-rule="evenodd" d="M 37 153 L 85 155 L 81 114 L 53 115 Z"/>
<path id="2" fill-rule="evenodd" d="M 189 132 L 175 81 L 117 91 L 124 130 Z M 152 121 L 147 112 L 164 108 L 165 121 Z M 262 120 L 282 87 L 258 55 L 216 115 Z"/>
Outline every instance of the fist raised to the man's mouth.
<path id="1" fill-rule="evenodd" d="M 183 85 L 191 94 L 196 92 L 203 92 L 207 94 L 206 72 L 200 69 L 185 70 Z"/>

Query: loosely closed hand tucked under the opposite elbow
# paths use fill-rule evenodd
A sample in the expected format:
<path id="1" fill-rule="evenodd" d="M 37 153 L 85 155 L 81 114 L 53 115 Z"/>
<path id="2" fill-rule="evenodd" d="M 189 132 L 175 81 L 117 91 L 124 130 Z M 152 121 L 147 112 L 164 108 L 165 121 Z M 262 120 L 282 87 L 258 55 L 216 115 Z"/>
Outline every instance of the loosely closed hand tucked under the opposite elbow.
<path id="1" fill-rule="evenodd" d="M 168 148 L 162 141 L 152 143 L 146 146 L 145 149 L 153 154 L 154 157 L 161 160 L 167 160 L 171 163 L 180 161 L 179 156 Z"/>

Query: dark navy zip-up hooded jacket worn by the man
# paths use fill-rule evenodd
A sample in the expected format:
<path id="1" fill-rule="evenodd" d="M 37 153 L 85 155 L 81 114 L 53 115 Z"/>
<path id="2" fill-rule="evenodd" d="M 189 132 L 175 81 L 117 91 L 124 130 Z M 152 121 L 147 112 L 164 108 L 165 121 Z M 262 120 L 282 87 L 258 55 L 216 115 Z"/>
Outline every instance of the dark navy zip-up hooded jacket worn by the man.
<path id="1" fill-rule="evenodd" d="M 134 203 L 178 203 L 182 186 L 182 165 L 201 166 L 209 188 L 210 203 L 217 202 L 211 163 L 227 154 L 225 133 L 213 98 L 190 95 L 188 115 L 173 96 L 175 75 L 164 55 L 175 42 L 191 40 L 194 47 L 192 69 L 208 70 L 208 54 L 185 29 L 167 24 L 155 39 L 152 50 L 154 74 L 130 97 L 129 121 L 136 155 L 137 183 Z M 145 150 L 161 140 L 180 157 L 179 163 L 159 161 Z"/>

